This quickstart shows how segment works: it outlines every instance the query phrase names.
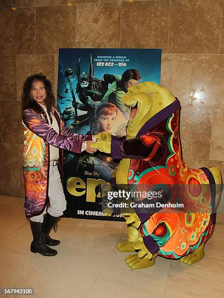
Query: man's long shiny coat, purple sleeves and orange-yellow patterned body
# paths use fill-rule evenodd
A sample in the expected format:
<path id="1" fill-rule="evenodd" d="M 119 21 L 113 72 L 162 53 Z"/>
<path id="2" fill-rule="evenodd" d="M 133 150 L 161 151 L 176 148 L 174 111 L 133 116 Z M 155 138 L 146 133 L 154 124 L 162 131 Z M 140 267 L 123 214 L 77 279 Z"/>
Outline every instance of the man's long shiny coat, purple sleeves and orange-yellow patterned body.
<path id="1" fill-rule="evenodd" d="M 58 170 L 63 179 L 62 149 L 80 153 L 84 140 L 92 140 L 92 135 L 73 133 L 61 121 L 59 112 L 54 115 L 59 134 L 49 126 L 47 115 L 31 109 L 22 114 L 24 128 L 23 179 L 25 187 L 24 209 L 27 217 L 43 212 L 48 201 L 50 150 L 49 144 L 59 148 Z"/>

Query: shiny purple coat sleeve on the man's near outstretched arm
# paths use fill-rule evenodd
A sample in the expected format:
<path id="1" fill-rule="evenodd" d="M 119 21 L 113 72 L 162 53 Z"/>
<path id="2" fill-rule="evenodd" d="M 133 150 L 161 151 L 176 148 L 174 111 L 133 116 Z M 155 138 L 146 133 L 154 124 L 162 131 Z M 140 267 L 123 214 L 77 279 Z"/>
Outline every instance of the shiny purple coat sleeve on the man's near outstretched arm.
<path id="1" fill-rule="evenodd" d="M 63 135 L 59 135 L 41 118 L 39 113 L 31 109 L 26 109 L 23 112 L 22 120 L 29 130 L 57 148 L 80 153 L 83 141 L 92 139 L 92 135 L 77 134 L 70 131 L 65 127 L 64 123 L 61 123 Z"/>

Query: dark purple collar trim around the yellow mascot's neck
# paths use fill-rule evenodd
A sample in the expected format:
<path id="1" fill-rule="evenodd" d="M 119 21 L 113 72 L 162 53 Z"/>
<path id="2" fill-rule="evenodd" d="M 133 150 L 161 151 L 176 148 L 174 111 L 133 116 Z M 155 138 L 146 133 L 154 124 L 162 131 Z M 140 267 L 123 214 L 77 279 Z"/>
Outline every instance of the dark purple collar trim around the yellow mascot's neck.
<path id="1" fill-rule="evenodd" d="M 162 122 L 163 120 L 167 119 L 169 116 L 172 115 L 177 109 L 181 107 L 180 102 L 177 97 L 176 100 L 168 105 L 166 108 L 152 116 L 138 131 L 136 137 L 141 136 L 142 134 L 146 133 L 147 131 L 151 130 L 154 126 Z"/>

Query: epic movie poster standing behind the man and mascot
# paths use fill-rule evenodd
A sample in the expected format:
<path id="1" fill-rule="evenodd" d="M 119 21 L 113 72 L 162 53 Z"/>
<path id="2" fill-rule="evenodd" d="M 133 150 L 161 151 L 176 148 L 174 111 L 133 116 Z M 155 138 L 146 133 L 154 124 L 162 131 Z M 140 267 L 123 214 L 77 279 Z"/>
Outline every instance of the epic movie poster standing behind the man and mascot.
<path id="1" fill-rule="evenodd" d="M 160 84 L 160 49 L 60 49 L 57 108 L 75 133 L 108 131 L 126 135 L 129 108 L 122 97 L 144 81 Z M 65 217 L 122 221 L 121 214 L 102 212 L 101 186 L 118 166 L 110 154 L 65 151 Z"/>

